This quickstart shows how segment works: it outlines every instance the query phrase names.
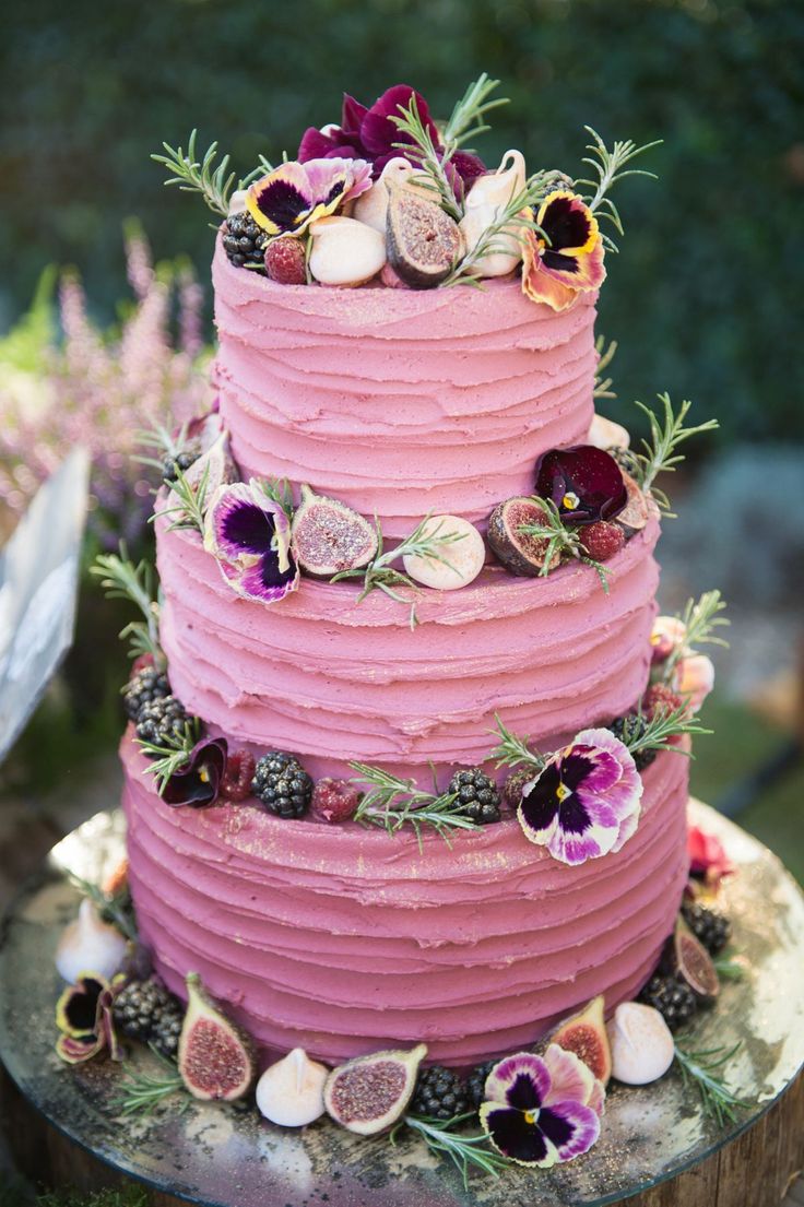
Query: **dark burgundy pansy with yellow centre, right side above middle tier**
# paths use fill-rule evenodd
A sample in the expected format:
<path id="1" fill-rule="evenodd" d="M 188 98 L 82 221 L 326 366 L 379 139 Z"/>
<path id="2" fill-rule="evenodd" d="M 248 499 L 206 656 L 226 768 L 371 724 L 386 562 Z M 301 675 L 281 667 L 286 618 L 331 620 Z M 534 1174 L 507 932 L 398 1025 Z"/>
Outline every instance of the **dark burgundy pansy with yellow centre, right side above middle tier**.
<path id="1" fill-rule="evenodd" d="M 552 498 L 572 525 L 613 520 L 628 503 L 628 489 L 613 456 L 593 444 L 550 449 L 536 462 L 536 494 Z"/>

